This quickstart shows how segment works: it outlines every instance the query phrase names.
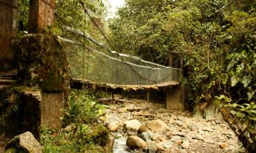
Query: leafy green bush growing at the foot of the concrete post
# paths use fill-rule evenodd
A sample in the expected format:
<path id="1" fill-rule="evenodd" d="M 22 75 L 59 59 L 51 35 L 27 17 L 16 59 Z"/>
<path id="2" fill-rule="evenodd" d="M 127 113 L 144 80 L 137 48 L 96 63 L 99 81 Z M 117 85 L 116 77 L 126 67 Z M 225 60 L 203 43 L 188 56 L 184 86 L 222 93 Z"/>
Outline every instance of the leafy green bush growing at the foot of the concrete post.
<path id="1" fill-rule="evenodd" d="M 68 108 L 63 109 L 61 131 L 42 129 L 40 141 L 46 153 L 103 152 L 109 131 L 97 119 L 102 115 L 104 105 L 96 103 L 94 96 L 86 90 L 72 90 Z"/>

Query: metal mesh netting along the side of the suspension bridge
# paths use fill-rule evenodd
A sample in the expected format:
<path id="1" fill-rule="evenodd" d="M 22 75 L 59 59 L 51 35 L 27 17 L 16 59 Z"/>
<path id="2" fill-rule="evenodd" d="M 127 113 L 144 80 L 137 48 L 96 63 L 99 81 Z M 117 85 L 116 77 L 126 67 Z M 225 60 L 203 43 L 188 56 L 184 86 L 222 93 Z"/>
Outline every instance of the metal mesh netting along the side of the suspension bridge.
<path id="1" fill-rule="evenodd" d="M 140 61 L 141 65 L 137 65 L 138 63 L 124 61 L 128 58 L 119 56 L 119 54 L 104 54 L 91 48 L 85 48 L 83 44 L 61 42 L 68 53 L 72 78 L 102 84 L 137 86 L 165 85 L 180 78 L 180 69 L 158 66 L 154 63 L 152 65 L 142 61 Z M 134 59 L 132 60 L 134 61 Z"/>

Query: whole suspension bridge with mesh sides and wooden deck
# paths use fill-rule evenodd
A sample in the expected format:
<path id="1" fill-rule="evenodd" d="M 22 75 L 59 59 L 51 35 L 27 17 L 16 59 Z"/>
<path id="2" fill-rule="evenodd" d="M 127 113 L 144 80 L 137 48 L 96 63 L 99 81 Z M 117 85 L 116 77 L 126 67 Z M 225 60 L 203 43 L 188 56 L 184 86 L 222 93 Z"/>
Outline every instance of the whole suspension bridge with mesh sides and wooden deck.
<path id="1" fill-rule="evenodd" d="M 109 91 L 136 91 L 180 84 L 180 69 L 144 61 L 137 56 L 119 54 L 83 31 L 65 26 L 62 29 L 66 35 L 76 35 L 76 40 L 59 37 L 68 54 L 73 88 L 95 86 Z M 106 51 L 90 48 L 85 44 L 85 39 L 94 42 L 96 48 Z"/>

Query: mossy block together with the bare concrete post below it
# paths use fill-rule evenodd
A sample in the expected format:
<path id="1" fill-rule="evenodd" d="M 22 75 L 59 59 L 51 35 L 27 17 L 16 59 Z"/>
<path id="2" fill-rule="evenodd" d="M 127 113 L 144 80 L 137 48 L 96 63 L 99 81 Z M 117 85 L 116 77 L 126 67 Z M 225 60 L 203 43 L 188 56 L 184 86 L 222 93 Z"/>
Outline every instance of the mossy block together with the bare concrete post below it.
<path id="1" fill-rule="evenodd" d="M 58 129 L 69 90 L 66 52 L 53 33 L 25 35 L 18 46 L 18 83 L 42 90 L 41 126 Z"/>

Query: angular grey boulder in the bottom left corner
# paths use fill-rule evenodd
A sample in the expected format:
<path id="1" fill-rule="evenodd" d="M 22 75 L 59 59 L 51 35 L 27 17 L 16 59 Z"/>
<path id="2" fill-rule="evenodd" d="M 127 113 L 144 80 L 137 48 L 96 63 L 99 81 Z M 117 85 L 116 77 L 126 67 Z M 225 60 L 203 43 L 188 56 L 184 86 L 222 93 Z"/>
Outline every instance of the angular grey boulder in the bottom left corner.
<path id="1" fill-rule="evenodd" d="M 17 135 L 9 141 L 5 146 L 5 150 L 9 149 L 14 149 L 18 152 L 42 153 L 42 146 L 30 132 Z"/>

